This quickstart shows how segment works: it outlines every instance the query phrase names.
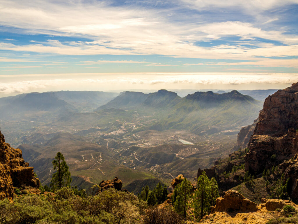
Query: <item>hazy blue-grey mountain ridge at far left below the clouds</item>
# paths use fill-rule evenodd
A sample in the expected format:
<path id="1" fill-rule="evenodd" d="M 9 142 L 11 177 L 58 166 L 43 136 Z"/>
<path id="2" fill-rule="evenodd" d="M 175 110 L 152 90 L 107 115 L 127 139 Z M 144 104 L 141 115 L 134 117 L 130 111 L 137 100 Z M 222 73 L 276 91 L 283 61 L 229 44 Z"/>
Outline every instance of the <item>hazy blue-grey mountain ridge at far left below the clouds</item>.
<path id="1" fill-rule="evenodd" d="M 100 91 L 25 93 L 0 98 L 0 113 L 2 119 L 19 119 L 30 113 L 32 117 L 93 111 L 117 95 Z"/>

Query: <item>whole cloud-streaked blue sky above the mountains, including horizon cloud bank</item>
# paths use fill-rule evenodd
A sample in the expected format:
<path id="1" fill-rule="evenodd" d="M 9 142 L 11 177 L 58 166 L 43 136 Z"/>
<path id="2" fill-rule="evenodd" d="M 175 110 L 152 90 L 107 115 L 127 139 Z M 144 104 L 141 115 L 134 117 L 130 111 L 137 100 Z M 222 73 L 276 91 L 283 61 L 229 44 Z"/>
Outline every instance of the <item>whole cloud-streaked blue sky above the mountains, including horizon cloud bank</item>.
<path id="1" fill-rule="evenodd" d="M 298 82 L 298 0 L 0 0 L 0 97 Z"/>

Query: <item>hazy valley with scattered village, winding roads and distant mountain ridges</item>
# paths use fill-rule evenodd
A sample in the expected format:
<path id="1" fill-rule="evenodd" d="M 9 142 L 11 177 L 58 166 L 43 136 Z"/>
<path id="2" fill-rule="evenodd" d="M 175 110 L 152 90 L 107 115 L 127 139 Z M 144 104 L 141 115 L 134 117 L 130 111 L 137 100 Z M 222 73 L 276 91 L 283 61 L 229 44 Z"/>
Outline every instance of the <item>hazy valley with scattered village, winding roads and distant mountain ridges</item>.
<path id="1" fill-rule="evenodd" d="M 264 99 L 276 90 L 213 91 L 24 93 L 0 98 L 1 131 L 43 185 L 61 151 L 72 185 L 88 188 L 117 176 L 138 193 L 136 183 L 168 183 L 181 173 L 193 179 L 198 168 L 235 151 L 238 132 L 263 105 L 251 96 Z"/>

